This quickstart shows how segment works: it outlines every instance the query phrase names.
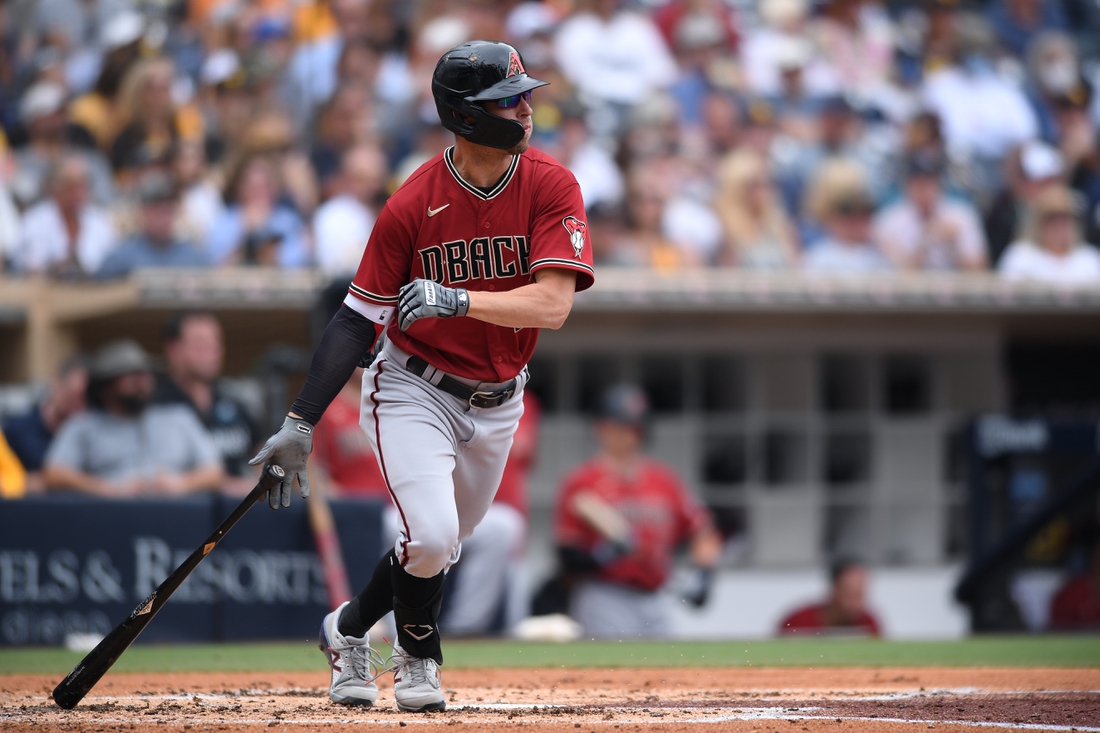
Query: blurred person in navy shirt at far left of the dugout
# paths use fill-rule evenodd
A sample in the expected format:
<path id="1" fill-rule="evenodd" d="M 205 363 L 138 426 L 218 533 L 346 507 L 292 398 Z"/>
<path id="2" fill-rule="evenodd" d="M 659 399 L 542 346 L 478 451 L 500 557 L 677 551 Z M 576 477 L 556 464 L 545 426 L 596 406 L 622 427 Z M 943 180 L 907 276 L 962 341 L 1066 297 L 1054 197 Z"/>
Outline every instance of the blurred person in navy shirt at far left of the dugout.
<path id="1" fill-rule="evenodd" d="M 74 357 L 62 364 L 45 396 L 31 409 L 0 422 L 0 430 L 26 471 L 29 492 L 45 486 L 42 467 L 50 445 L 66 420 L 85 411 L 87 390 L 88 362 L 81 355 Z"/>

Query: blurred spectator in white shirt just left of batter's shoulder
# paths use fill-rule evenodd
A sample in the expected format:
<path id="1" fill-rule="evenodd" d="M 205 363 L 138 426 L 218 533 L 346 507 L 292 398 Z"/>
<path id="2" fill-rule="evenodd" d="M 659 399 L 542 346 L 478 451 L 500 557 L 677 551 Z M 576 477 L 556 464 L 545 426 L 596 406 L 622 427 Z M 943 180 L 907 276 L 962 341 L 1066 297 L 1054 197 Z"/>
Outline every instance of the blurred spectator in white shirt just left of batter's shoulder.
<path id="1" fill-rule="evenodd" d="M 353 275 L 359 269 L 385 180 L 386 158 L 381 150 L 358 145 L 344 153 L 340 194 L 314 215 L 317 264 L 327 275 Z"/>

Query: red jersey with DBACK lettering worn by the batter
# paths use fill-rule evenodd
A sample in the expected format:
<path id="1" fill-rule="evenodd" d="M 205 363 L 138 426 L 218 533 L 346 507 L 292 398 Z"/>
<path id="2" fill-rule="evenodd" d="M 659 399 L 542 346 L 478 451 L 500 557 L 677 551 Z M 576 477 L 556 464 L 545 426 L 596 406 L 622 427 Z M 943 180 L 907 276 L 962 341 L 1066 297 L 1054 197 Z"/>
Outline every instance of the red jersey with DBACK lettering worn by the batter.
<path id="1" fill-rule="evenodd" d="M 449 147 L 425 163 L 386 203 L 344 300 L 350 308 L 386 324 L 398 289 L 417 277 L 510 291 L 543 267 L 561 267 L 576 273 L 578 291 L 592 286 L 588 225 L 572 173 L 528 149 L 486 192 L 462 179 L 453 155 Z M 538 329 L 422 318 L 407 331 L 395 322 L 386 337 L 444 372 L 504 382 L 530 360 Z"/>

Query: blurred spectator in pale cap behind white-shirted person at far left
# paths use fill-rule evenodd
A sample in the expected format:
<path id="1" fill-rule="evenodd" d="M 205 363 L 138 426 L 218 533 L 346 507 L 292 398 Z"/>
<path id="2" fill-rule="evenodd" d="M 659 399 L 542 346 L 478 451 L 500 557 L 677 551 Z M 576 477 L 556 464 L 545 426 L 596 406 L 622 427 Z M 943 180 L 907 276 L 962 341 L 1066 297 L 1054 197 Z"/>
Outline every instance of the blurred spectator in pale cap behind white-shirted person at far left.
<path id="1" fill-rule="evenodd" d="M 20 120 L 26 129 L 26 142 L 15 150 L 12 193 L 23 206 L 36 203 L 46 189 L 50 172 L 64 153 L 85 158 L 91 184 L 91 198 L 108 205 L 114 196 L 114 182 L 107 158 L 97 151 L 73 150 L 65 121 L 65 89 L 42 81 L 30 87 L 20 99 Z"/>

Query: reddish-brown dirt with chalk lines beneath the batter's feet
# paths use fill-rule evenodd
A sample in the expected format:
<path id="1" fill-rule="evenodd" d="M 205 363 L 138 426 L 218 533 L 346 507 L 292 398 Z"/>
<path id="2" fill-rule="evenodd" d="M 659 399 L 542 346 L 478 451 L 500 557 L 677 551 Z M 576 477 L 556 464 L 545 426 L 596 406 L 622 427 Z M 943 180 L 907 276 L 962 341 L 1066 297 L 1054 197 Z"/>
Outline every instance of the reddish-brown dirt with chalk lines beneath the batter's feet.
<path id="1" fill-rule="evenodd" d="M 584 731 L 1100 732 L 1100 669 L 444 670 L 448 710 L 403 713 L 328 701 L 327 674 L 110 674 L 73 711 L 59 677 L 0 676 L 0 730 L 294 731 L 345 726 Z"/>

